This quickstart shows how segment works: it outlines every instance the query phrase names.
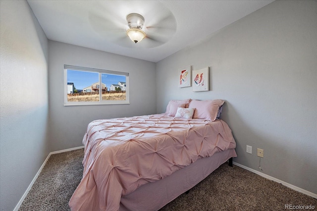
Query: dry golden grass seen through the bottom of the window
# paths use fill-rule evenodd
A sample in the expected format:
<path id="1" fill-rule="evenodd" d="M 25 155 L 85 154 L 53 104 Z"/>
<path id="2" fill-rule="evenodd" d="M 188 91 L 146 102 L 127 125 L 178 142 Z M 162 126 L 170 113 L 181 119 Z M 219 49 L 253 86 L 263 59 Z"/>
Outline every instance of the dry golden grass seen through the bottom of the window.
<path id="1" fill-rule="evenodd" d="M 126 93 L 106 93 L 103 94 L 103 100 L 107 101 L 124 101 L 126 100 Z M 93 95 L 68 95 L 68 102 L 91 102 L 99 101 L 99 94 Z"/>

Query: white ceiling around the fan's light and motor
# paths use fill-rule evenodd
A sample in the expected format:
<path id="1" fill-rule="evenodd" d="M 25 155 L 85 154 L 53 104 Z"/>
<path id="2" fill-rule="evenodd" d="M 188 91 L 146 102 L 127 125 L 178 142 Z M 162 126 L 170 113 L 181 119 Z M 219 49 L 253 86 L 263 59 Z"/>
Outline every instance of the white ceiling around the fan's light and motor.
<path id="1" fill-rule="evenodd" d="M 28 3 L 50 40 L 157 62 L 272 1 L 28 0 Z M 144 29 L 149 30 L 148 38 L 137 44 L 124 30 L 126 15 L 134 12 L 144 16 Z M 152 35 L 160 42 L 151 40 Z"/>

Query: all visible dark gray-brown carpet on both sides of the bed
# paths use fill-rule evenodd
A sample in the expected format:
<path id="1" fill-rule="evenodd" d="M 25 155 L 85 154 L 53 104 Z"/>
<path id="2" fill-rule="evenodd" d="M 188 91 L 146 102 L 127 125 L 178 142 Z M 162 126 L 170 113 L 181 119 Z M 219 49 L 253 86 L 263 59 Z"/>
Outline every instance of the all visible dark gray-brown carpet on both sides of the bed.
<path id="1" fill-rule="evenodd" d="M 53 154 L 19 211 L 69 211 L 68 201 L 82 178 L 82 159 L 83 149 Z M 160 211 L 285 211 L 285 204 L 317 209 L 317 199 L 225 163 Z"/>

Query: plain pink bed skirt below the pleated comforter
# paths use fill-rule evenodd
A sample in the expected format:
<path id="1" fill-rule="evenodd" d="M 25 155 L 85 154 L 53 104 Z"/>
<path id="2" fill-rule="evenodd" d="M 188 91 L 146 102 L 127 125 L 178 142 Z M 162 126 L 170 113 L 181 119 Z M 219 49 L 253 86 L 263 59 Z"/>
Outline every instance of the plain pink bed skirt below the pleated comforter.
<path id="1" fill-rule="evenodd" d="M 215 153 L 211 157 L 198 159 L 164 179 L 145 184 L 121 198 L 120 211 L 158 211 L 232 157 L 237 157 L 234 149 Z"/>

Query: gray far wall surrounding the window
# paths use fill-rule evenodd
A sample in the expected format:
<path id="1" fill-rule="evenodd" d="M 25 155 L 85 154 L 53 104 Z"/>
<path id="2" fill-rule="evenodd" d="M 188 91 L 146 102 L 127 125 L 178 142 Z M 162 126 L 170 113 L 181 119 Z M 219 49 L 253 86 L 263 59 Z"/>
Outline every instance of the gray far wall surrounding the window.
<path id="1" fill-rule="evenodd" d="M 64 64 L 129 72 L 130 105 L 63 106 Z M 155 63 L 49 41 L 51 151 L 82 146 L 89 122 L 156 112 Z"/>

